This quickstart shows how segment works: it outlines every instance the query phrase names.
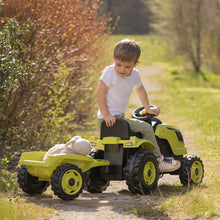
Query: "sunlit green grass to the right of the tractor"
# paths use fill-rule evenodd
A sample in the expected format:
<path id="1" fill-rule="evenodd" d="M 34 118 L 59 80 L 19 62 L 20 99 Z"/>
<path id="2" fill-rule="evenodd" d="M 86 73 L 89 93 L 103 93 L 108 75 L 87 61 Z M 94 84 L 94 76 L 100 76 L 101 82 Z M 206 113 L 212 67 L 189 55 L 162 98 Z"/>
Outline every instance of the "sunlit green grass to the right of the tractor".
<path id="1" fill-rule="evenodd" d="M 166 109 L 163 118 L 185 131 L 188 152 L 201 157 L 205 178 L 200 188 L 165 199 L 158 208 L 183 218 L 220 216 L 220 76 L 206 74 L 207 81 L 192 73 L 170 71 L 164 74 L 166 91 L 157 103 Z M 188 136 L 189 135 L 189 136 Z M 175 210 L 175 212 L 173 212 Z M 185 213 L 185 214 L 184 214 Z"/>

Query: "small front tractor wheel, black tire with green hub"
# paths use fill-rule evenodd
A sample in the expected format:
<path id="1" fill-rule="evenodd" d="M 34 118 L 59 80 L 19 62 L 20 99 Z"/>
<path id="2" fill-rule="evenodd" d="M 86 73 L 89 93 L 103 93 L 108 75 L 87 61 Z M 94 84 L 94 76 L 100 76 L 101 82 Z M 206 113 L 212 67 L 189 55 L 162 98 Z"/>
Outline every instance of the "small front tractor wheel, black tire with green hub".
<path id="1" fill-rule="evenodd" d="M 197 156 L 184 157 L 179 175 L 180 182 L 187 185 L 199 185 L 204 177 L 204 165 Z"/>

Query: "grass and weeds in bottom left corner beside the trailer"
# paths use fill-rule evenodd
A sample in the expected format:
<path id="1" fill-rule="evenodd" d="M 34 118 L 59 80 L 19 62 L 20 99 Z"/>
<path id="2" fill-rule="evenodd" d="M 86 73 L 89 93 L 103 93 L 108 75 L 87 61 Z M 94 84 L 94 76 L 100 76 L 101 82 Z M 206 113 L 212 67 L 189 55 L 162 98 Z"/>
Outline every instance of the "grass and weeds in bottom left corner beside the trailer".
<path id="1" fill-rule="evenodd" d="M 15 171 L 7 171 L 4 163 L 0 169 L 0 219 L 1 220 L 32 220 L 50 219 L 55 211 L 44 208 L 41 204 L 28 202 L 21 197 L 21 189 L 18 188 L 17 174 Z"/>

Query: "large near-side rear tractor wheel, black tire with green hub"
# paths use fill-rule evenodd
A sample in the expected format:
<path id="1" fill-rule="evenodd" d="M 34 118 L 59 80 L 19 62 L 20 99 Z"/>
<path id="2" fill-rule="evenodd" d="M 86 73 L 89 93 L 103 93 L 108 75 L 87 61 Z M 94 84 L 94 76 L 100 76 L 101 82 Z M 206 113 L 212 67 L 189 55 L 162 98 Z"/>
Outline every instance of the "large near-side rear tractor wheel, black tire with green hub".
<path id="1" fill-rule="evenodd" d="M 151 151 L 142 149 L 136 152 L 128 160 L 124 171 L 126 184 L 132 193 L 148 194 L 157 187 L 159 168 Z"/>

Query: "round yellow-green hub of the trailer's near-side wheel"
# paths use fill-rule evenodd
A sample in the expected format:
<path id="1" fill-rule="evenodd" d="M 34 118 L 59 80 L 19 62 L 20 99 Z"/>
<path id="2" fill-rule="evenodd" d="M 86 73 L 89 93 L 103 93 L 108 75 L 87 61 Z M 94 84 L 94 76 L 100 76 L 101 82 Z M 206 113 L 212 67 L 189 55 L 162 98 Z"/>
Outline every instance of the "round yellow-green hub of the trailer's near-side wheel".
<path id="1" fill-rule="evenodd" d="M 61 186 L 66 194 L 74 195 L 82 187 L 82 176 L 77 170 L 68 170 L 63 174 Z"/>

